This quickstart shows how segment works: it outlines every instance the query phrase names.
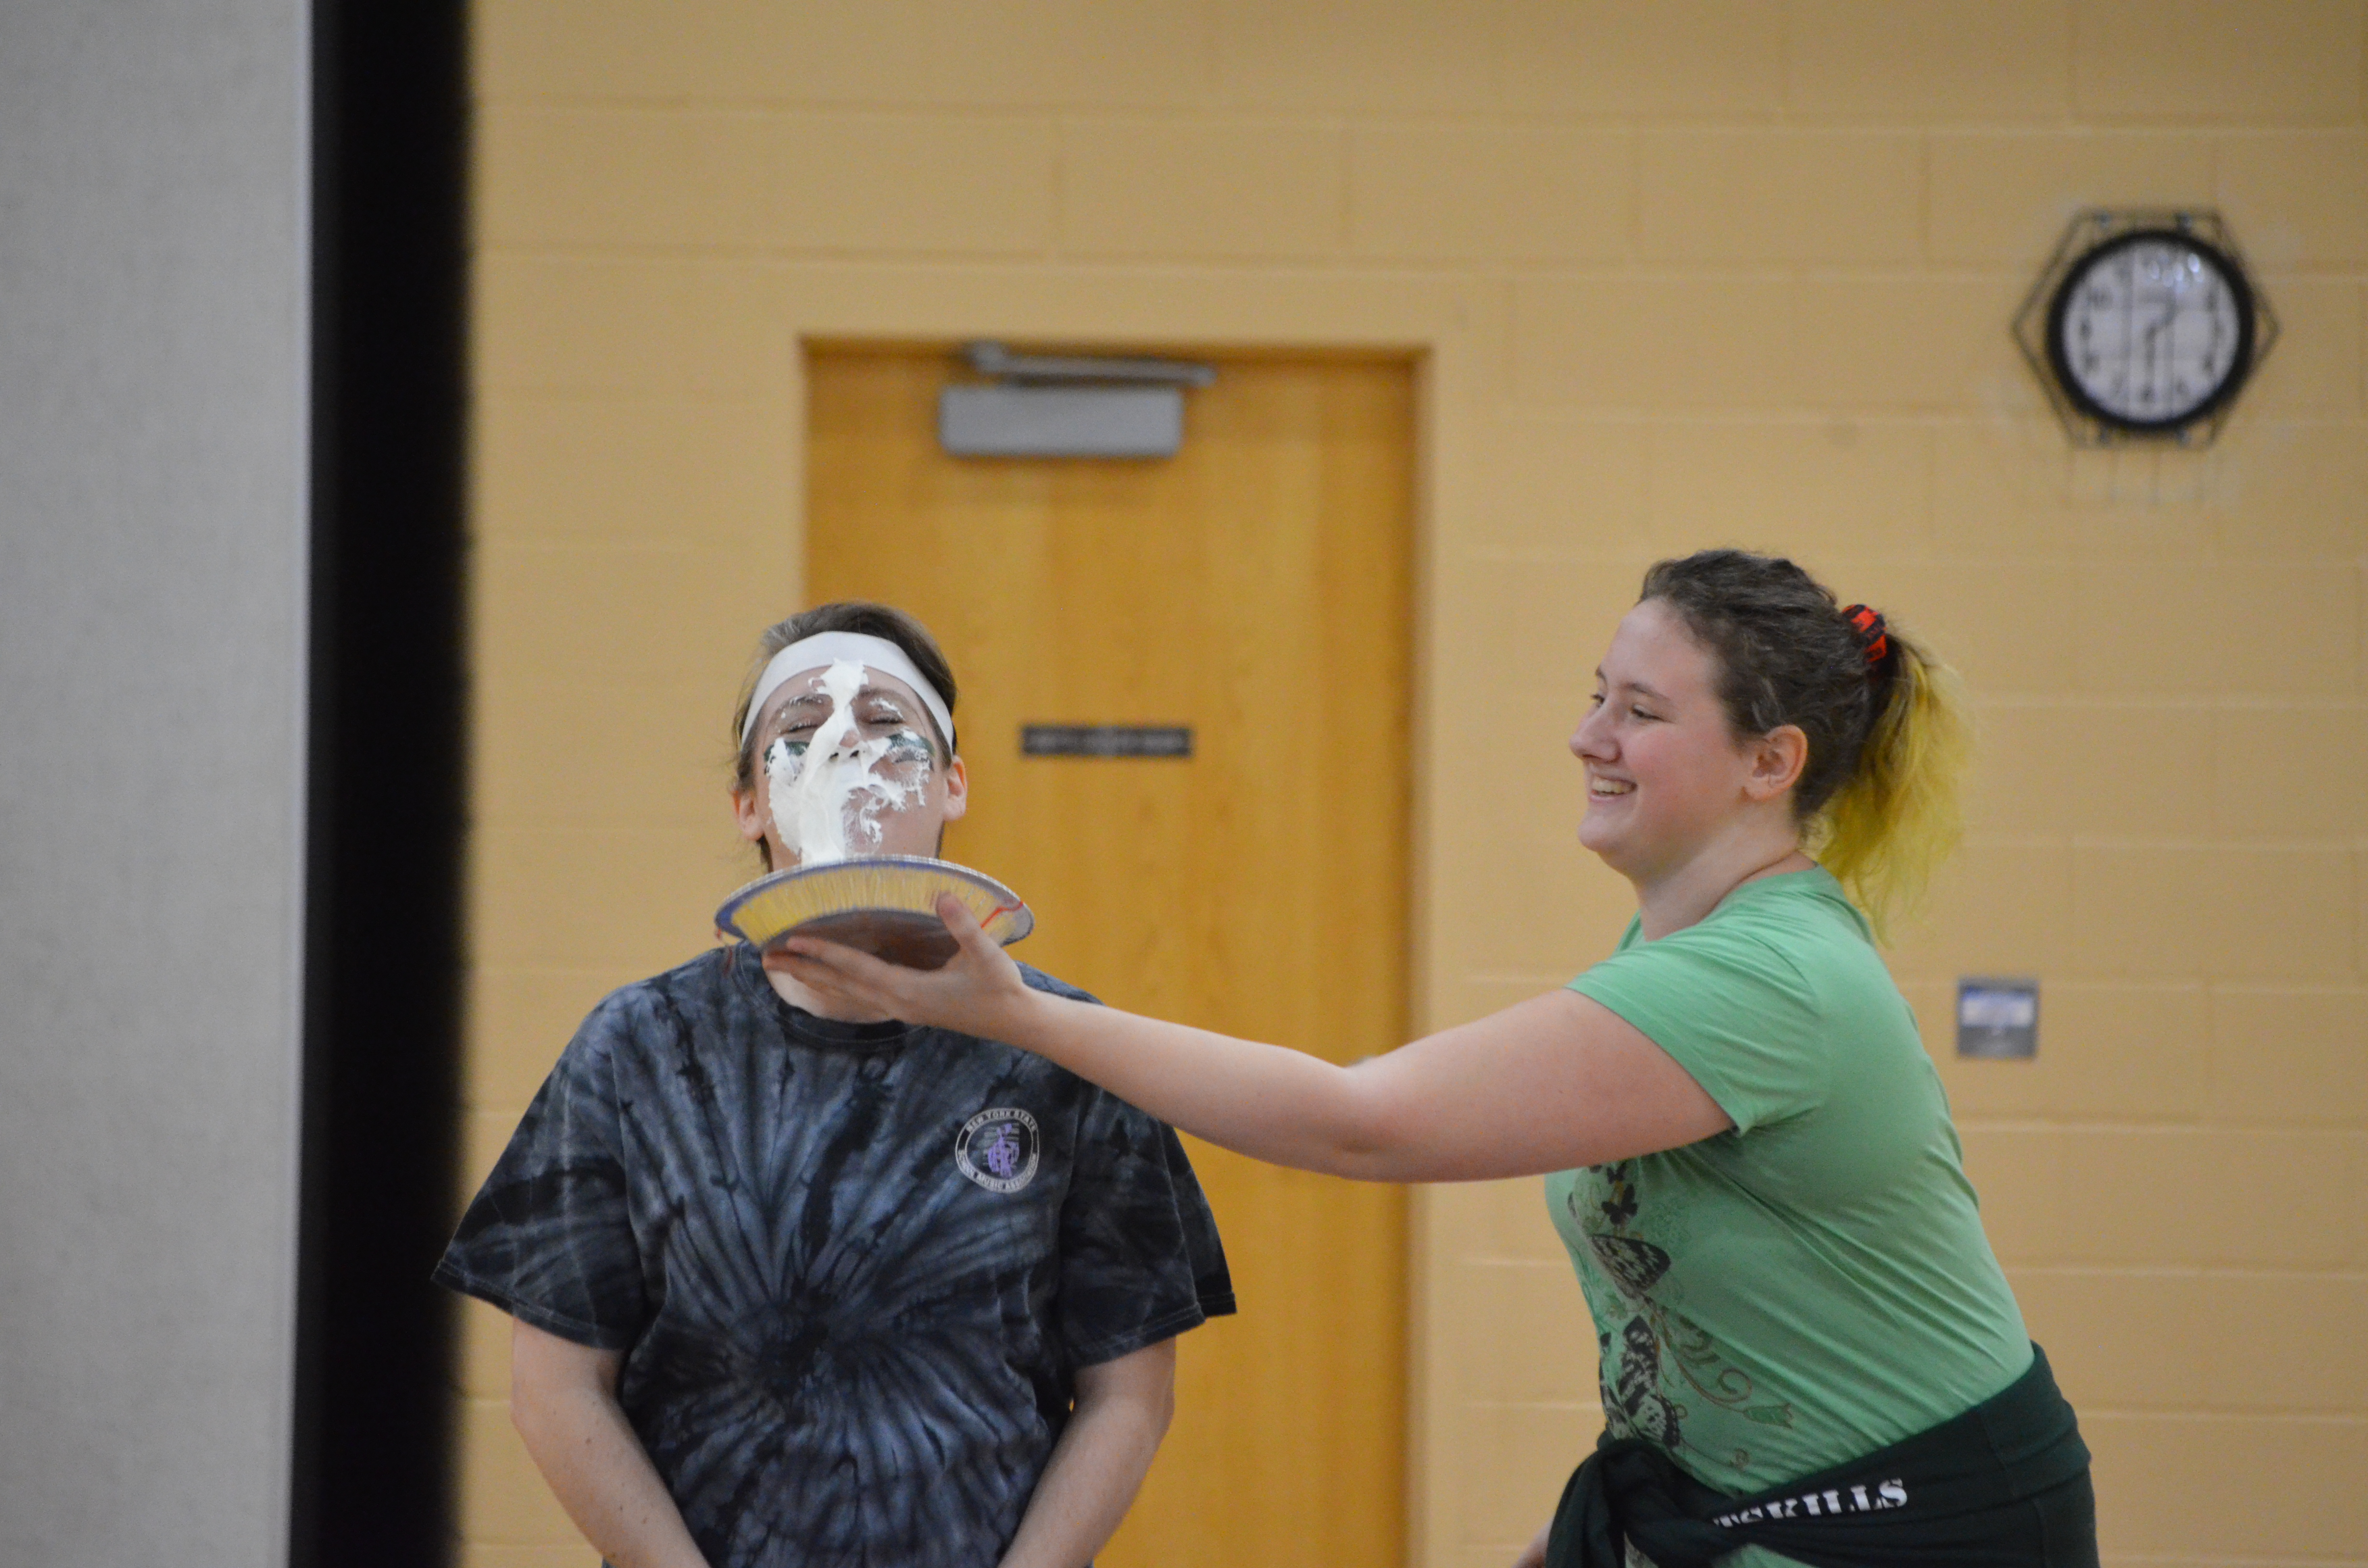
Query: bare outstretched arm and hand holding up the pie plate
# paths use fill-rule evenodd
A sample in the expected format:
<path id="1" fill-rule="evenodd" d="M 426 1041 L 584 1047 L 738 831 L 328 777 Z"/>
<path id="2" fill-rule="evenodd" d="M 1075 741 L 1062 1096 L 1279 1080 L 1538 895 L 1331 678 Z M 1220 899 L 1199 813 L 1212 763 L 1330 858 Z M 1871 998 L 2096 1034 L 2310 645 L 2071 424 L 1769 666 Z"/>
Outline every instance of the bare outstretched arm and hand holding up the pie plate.
<path id="1" fill-rule="evenodd" d="M 1025 1047 L 1196 1137 L 1302 1170 L 1478 1182 L 1677 1149 L 1731 1125 L 1667 1052 L 1570 990 L 1343 1068 L 1030 990 L 969 910 L 947 898 L 938 914 L 961 943 L 938 971 L 805 938 L 767 964 L 893 1018 Z"/>

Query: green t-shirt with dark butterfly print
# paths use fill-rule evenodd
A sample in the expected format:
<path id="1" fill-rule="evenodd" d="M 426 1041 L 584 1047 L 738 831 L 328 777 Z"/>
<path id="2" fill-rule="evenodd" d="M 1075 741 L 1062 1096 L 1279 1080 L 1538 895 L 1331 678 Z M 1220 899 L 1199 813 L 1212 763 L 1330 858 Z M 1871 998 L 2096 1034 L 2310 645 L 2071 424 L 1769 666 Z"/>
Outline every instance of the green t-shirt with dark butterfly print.
<path id="1" fill-rule="evenodd" d="M 1916 1018 L 1823 869 L 1762 876 L 1570 983 L 1729 1132 L 1546 1177 L 1603 1416 L 1722 1492 L 1937 1426 L 2032 1364 Z M 1743 1563 L 1783 1561 L 1759 1551 Z"/>

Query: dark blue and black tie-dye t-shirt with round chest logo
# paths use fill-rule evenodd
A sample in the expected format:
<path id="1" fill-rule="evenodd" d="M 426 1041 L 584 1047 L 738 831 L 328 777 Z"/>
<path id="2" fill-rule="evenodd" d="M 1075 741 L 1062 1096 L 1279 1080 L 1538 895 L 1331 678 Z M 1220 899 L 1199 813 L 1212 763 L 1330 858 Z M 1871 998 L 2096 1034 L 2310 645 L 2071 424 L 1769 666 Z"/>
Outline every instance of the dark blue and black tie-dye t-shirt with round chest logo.
<path id="1" fill-rule="evenodd" d="M 625 1352 L 713 1568 L 992 1568 L 1075 1371 L 1234 1310 L 1163 1123 L 1009 1045 L 815 1018 L 748 947 L 592 1011 L 436 1279 Z"/>

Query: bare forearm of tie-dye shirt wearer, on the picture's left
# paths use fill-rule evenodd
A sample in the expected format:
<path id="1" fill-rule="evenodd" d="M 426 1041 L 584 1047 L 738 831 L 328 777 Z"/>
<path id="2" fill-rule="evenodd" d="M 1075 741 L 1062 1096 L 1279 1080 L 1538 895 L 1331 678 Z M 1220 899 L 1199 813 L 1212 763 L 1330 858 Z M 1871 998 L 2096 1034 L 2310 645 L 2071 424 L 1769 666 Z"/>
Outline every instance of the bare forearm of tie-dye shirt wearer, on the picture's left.
<path id="1" fill-rule="evenodd" d="M 538 1388 L 511 1397 L 526 1452 L 585 1540 L 616 1568 L 708 1568 L 616 1397 Z"/>

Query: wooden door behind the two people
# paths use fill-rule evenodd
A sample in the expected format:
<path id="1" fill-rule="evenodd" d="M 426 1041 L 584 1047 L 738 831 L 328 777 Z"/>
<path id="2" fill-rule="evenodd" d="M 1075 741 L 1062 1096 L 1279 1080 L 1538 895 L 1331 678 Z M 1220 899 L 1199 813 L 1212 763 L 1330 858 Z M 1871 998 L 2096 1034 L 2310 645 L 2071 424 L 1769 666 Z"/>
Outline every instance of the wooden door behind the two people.
<path id="1" fill-rule="evenodd" d="M 1411 367 L 1222 360 L 1165 462 L 957 460 L 952 353 L 810 358 L 807 597 L 945 644 L 1016 952 L 1115 1007 L 1354 1061 L 1404 1040 Z M 1193 756 L 1023 758 L 1021 727 L 1191 725 Z M 1241 1315 L 1106 1568 L 1404 1559 L 1404 1194 L 1186 1139 Z"/>

